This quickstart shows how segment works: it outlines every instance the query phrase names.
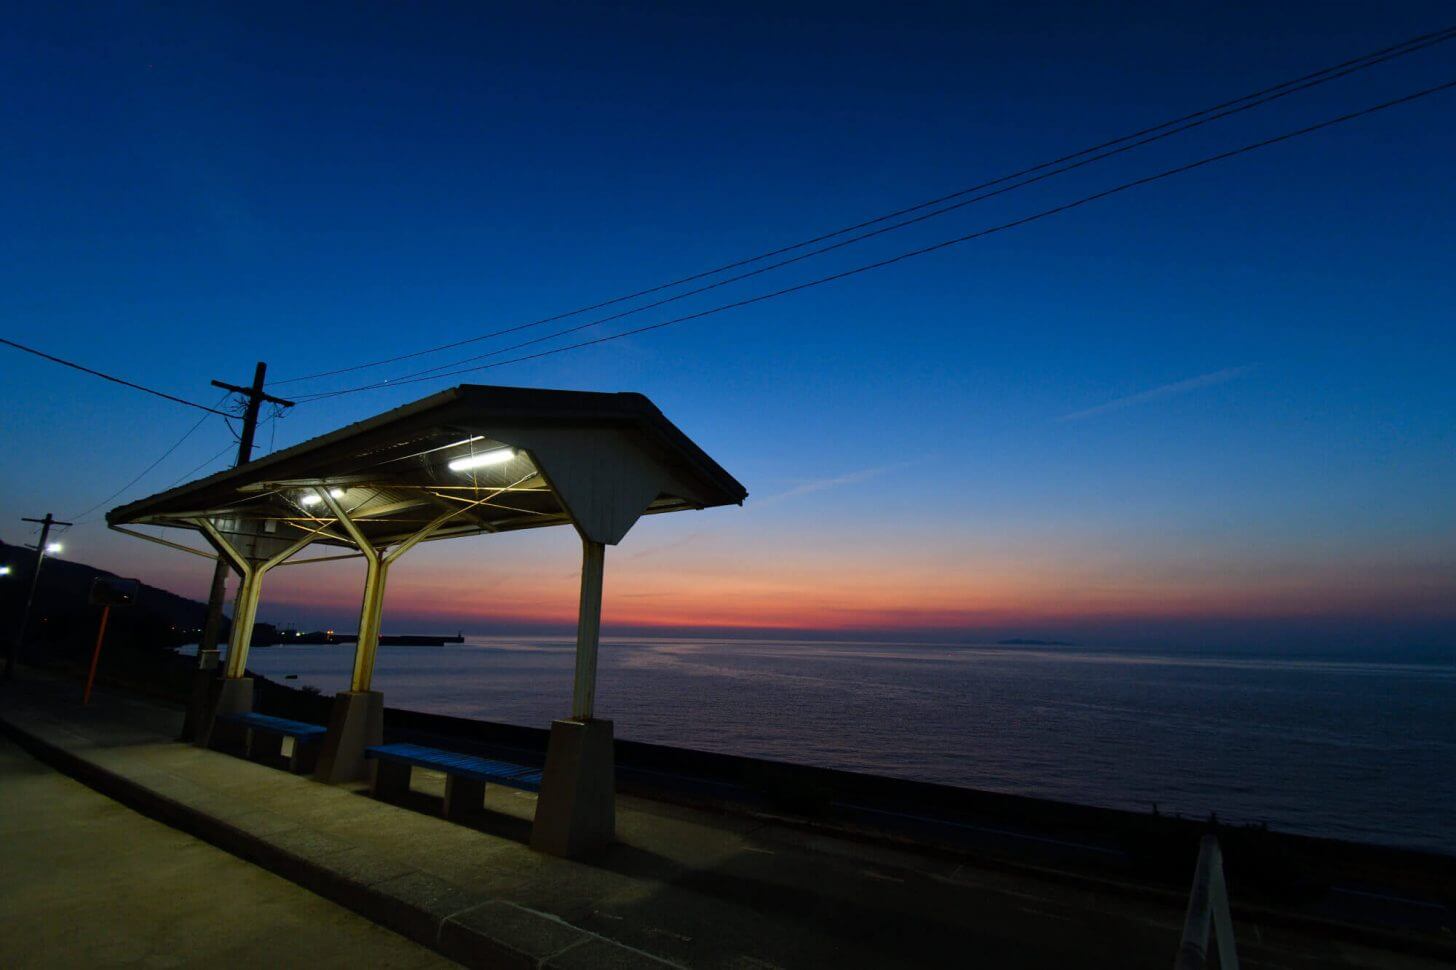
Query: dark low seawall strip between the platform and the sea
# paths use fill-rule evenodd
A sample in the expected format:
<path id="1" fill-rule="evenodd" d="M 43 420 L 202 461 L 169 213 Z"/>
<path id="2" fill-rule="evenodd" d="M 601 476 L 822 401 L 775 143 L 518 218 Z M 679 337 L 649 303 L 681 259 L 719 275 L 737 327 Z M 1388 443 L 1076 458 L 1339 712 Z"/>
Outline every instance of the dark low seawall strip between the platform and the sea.
<path id="1" fill-rule="evenodd" d="M 326 717 L 323 699 L 259 683 L 259 709 Z M 399 708 L 384 709 L 384 725 L 393 738 L 521 763 L 546 753 L 542 728 Z M 623 794 L 1137 891 L 1182 896 L 1214 830 L 1246 913 L 1420 951 L 1456 928 L 1453 856 L 623 738 L 616 763 Z"/>

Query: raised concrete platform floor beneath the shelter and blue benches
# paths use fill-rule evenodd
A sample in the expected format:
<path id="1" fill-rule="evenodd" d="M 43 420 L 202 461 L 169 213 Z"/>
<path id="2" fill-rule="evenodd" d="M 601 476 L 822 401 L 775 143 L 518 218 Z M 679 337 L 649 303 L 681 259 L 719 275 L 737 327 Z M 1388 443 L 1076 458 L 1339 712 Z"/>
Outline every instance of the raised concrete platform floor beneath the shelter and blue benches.
<path id="1" fill-rule="evenodd" d="M 432 934 L 431 945 L 463 963 L 491 966 L 498 947 L 510 945 L 518 966 L 537 967 L 661 960 L 721 970 L 1165 970 L 1181 932 L 1184 900 L 1176 897 L 626 797 L 617 810 L 620 845 L 569 862 L 527 848 L 534 797 L 524 792 L 491 786 L 488 811 L 473 824 L 453 824 L 430 814 L 438 776 L 416 782 L 414 805 L 389 805 L 358 785 L 322 785 L 179 744 L 170 738 L 181 714 L 165 705 L 102 692 L 80 708 L 70 683 L 20 679 L 0 690 L 0 719 L 111 779 L 214 820 L 220 832 L 246 839 L 230 845 L 234 852 L 265 864 L 287 859 L 301 872 L 294 878 L 335 887 L 328 890 L 335 899 L 345 894 L 339 886 L 357 887 L 358 909 L 376 919 L 412 926 L 406 910 L 428 912 L 435 922 L 406 932 L 425 942 Z M 13 798 L 25 816 L 47 810 L 39 792 Z M 132 858 L 141 868 L 151 853 L 138 849 Z M 229 861 L 211 881 L 224 894 L 236 878 Z M 236 919 L 239 932 L 255 926 L 248 912 Z M 1443 966 L 1236 922 L 1241 961 L 1254 970 Z"/>

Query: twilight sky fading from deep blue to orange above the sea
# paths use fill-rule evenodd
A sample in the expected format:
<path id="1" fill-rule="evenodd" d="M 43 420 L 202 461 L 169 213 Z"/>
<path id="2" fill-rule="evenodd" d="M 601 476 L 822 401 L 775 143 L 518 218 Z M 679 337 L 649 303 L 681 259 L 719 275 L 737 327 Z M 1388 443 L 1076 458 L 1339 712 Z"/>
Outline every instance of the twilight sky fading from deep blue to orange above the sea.
<path id="1" fill-rule="evenodd" d="M 569 310 L 1456 19 L 1441 3 L 785 6 L 12 12 L 3 332 L 213 403 L 207 382 L 245 383 L 256 360 L 285 379 Z M 1456 44 L 639 319 L 1452 77 Z M 748 486 L 745 508 L 644 521 L 609 556 L 609 632 L 1456 644 L 1453 121 L 1447 92 L 472 379 L 641 390 Z M 76 516 L 198 417 L 9 350 L 0 374 L 10 542 L 20 516 Z M 262 447 L 448 383 L 300 406 Z M 210 419 L 116 501 L 229 440 Z M 205 564 L 92 518 L 67 555 L 204 594 Z M 412 553 L 386 629 L 568 622 L 577 549 L 555 533 Z M 261 616 L 349 626 L 351 567 L 303 572 Z"/>

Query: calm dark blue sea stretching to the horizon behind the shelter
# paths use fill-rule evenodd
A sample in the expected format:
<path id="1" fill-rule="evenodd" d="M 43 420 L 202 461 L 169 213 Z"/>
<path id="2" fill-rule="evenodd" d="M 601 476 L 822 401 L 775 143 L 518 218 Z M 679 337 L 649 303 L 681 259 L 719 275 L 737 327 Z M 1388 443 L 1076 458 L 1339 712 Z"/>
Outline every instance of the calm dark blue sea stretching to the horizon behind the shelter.
<path id="1" fill-rule="evenodd" d="M 383 647 L 386 703 L 546 727 L 572 641 Z M 326 693 L 352 647 L 255 648 Z M 1456 853 L 1456 658 L 603 641 L 617 737 Z"/>

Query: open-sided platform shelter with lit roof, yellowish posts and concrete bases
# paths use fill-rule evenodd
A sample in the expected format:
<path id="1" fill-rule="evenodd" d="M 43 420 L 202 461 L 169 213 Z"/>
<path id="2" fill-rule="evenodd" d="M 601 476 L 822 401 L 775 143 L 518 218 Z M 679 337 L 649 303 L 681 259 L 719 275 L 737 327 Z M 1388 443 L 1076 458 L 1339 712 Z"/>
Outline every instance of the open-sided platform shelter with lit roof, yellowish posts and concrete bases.
<path id="1" fill-rule="evenodd" d="M 462 385 L 111 510 L 131 536 L 239 577 L 215 715 L 252 711 L 248 648 L 274 569 L 364 561 L 349 689 L 333 699 L 317 778 L 363 778 L 383 740 L 373 686 L 390 569 L 422 542 L 571 526 L 581 597 L 569 715 L 552 722 L 533 846 L 577 855 L 613 837 L 612 721 L 596 717 L 606 548 L 649 514 L 743 504 L 747 491 L 642 395 Z M 138 527 L 191 530 L 198 549 Z"/>

